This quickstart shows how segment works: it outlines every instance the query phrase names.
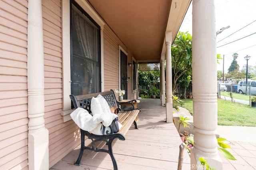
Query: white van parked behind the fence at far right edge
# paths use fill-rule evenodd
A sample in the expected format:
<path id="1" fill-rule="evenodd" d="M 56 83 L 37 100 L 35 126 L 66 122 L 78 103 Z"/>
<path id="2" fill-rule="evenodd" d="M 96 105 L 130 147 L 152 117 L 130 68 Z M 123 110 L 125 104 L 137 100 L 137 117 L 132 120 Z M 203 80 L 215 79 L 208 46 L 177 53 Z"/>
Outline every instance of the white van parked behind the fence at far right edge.
<path id="1" fill-rule="evenodd" d="M 240 94 L 246 93 L 246 81 L 241 80 L 238 82 L 237 91 Z M 256 95 L 256 81 L 248 80 L 247 81 L 247 94 Z"/>

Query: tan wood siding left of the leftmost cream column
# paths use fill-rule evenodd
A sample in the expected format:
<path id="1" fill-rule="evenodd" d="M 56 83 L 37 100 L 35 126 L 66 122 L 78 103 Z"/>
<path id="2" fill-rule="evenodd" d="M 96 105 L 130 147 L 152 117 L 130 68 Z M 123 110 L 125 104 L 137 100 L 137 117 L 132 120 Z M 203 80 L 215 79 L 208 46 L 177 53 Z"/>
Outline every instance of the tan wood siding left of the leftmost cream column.
<path id="1" fill-rule="evenodd" d="M 0 0 L 0 169 L 28 169 L 27 0 Z"/>

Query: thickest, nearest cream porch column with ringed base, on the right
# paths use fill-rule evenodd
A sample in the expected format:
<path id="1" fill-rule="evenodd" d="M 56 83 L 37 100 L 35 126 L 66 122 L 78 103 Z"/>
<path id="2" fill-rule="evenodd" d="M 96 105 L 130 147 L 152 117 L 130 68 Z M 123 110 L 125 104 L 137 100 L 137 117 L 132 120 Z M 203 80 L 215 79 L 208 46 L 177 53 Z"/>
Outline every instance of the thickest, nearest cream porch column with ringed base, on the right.
<path id="1" fill-rule="evenodd" d="M 222 170 L 218 155 L 217 129 L 217 61 L 214 0 L 193 0 L 193 113 L 194 148 L 191 149 L 191 169 L 203 169 L 199 157 Z"/>

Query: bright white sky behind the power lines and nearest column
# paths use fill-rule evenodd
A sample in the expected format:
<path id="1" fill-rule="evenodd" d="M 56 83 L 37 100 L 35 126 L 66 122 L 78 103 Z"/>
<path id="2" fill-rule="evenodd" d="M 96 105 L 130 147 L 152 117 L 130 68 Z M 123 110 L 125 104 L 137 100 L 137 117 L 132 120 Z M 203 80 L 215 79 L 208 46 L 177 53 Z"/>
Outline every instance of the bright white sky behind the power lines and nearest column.
<path id="1" fill-rule="evenodd" d="M 240 66 L 240 70 L 243 66 L 246 66 L 246 60 L 244 59 L 246 55 L 251 56 L 250 60 L 248 60 L 248 65 L 256 66 L 256 1 L 215 0 L 215 15 L 216 31 L 230 25 L 230 28 L 222 31 L 216 38 L 217 54 L 220 54 L 222 58 L 224 55 L 224 72 L 228 72 L 228 68 L 233 60 L 233 53 L 238 53 L 236 61 Z M 241 30 L 238 31 L 239 29 Z M 192 2 L 182 22 L 180 31 L 188 31 L 193 36 Z M 240 40 L 236 41 L 237 39 Z M 232 41 L 235 42 L 231 43 Z M 219 62 L 220 64 L 217 64 L 217 70 L 223 70 L 223 60 L 219 60 Z"/>

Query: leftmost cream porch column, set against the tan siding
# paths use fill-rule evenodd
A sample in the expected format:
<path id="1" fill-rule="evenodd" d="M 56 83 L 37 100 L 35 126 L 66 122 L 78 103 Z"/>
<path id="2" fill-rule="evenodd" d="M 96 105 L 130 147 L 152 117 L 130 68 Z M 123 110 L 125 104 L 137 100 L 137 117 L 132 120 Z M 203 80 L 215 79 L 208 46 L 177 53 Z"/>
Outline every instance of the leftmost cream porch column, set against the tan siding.
<path id="1" fill-rule="evenodd" d="M 49 169 L 44 126 L 44 45 L 41 0 L 28 0 L 28 168 Z"/>

